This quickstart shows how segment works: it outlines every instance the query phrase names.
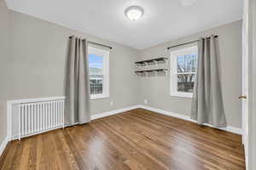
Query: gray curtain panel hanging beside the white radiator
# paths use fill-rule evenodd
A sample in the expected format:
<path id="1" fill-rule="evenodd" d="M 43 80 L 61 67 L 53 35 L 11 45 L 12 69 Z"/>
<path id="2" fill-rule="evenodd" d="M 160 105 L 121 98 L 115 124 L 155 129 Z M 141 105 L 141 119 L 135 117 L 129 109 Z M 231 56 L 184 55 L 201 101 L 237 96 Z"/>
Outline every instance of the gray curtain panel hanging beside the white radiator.
<path id="1" fill-rule="evenodd" d="M 65 123 L 90 122 L 90 82 L 87 42 L 78 37 L 69 38 L 67 55 Z"/>

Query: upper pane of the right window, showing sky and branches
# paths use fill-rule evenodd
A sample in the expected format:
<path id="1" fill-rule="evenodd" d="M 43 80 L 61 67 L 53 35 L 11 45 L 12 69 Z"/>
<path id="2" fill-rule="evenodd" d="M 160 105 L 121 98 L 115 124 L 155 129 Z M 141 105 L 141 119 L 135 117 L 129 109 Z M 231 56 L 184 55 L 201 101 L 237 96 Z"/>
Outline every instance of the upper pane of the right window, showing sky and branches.
<path id="1" fill-rule="evenodd" d="M 177 57 L 177 72 L 195 72 L 197 54 L 186 54 Z"/>

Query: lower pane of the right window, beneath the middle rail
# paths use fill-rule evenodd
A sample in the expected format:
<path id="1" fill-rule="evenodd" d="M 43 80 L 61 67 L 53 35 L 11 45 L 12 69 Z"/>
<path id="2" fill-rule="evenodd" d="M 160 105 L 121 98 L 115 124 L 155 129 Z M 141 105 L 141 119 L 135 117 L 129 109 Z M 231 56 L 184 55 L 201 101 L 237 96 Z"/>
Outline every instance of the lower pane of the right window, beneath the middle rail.
<path id="1" fill-rule="evenodd" d="M 195 74 L 177 75 L 177 91 L 193 93 L 195 84 Z"/>

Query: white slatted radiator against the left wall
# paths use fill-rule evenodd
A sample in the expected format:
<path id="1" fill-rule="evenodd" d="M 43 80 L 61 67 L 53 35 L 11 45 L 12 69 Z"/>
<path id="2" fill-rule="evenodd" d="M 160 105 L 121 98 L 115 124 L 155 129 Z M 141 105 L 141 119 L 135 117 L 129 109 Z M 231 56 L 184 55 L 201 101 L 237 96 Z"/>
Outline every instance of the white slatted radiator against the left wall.
<path id="1" fill-rule="evenodd" d="M 18 105 L 19 139 L 64 127 L 64 99 Z"/>

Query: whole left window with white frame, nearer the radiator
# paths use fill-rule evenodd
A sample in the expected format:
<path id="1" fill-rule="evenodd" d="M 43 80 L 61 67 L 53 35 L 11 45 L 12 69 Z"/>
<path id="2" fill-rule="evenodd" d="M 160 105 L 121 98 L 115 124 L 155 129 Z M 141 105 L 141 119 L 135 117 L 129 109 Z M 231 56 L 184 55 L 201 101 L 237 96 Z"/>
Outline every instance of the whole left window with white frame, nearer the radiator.
<path id="1" fill-rule="evenodd" d="M 109 51 L 88 48 L 90 99 L 109 97 Z"/>

